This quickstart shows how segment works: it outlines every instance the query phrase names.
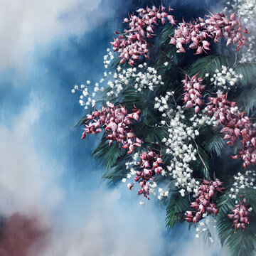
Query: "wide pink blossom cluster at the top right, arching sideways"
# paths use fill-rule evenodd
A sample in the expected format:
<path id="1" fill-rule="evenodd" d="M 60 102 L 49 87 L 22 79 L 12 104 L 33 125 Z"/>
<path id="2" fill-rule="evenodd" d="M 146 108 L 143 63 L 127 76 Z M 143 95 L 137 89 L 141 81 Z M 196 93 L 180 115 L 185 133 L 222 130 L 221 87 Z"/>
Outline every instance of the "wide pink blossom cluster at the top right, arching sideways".
<path id="1" fill-rule="evenodd" d="M 248 33 L 245 27 L 242 28 L 240 19 L 235 14 L 225 16 L 223 13 L 210 14 L 207 19 L 198 18 L 197 21 L 186 23 L 183 21 L 178 24 L 174 31 L 174 37 L 171 37 L 170 44 L 176 45 L 177 53 L 185 53 L 183 45 L 190 43 L 188 48 L 196 50 L 195 54 L 206 53 L 210 50 L 209 38 L 213 38 L 215 43 L 219 43 L 221 37 L 227 38 L 227 46 L 233 42 L 240 47 L 248 46 L 244 33 Z"/>

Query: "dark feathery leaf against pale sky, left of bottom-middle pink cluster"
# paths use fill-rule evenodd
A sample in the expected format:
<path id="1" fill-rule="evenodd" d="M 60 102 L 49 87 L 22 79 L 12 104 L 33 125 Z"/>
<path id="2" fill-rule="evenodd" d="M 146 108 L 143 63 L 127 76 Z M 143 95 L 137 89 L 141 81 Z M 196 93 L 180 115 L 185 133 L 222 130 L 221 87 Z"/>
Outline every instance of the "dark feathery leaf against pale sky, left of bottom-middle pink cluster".
<path id="1" fill-rule="evenodd" d="M 178 191 L 172 192 L 166 208 L 166 228 L 170 230 L 178 221 L 183 222 L 184 213 L 188 209 L 188 196 L 182 197 Z"/>

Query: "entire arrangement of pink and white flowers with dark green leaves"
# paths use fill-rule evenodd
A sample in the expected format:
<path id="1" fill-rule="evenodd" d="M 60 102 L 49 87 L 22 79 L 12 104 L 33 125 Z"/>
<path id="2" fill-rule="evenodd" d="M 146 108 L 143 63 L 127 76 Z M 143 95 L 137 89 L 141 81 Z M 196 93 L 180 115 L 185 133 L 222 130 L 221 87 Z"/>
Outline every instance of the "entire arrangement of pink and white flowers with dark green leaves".
<path id="1" fill-rule="evenodd" d="M 129 14 L 104 56 L 103 78 L 72 92 L 80 91 L 80 105 L 90 110 L 77 123 L 82 139 L 103 133 L 93 154 L 105 178 L 138 187 L 142 205 L 143 198 L 161 201 L 167 228 L 187 221 L 196 238 L 203 232 L 214 242 L 213 221 L 230 255 L 253 255 L 254 17 L 240 14 L 241 1 L 238 14 L 227 4 L 188 22 L 164 6 Z"/>

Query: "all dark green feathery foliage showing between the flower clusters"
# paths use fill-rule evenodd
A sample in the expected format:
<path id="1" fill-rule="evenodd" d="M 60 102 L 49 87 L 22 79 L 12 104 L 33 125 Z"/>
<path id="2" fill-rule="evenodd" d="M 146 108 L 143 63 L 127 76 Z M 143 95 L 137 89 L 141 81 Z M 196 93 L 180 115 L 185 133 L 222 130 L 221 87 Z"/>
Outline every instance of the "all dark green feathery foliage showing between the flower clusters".
<path id="1" fill-rule="evenodd" d="M 122 92 L 118 97 L 112 95 L 107 96 L 107 92 L 112 90 L 110 87 L 105 89 L 104 100 L 113 102 L 115 104 L 122 104 L 127 107 L 130 112 L 134 105 L 142 110 L 139 122 L 132 125 L 134 133 L 143 140 L 142 147 L 137 151 L 147 150 L 147 147 L 154 149 L 161 149 L 161 154 L 164 155 L 165 149 L 161 148 L 159 144 L 164 137 L 168 137 L 168 127 L 159 127 L 163 117 L 161 113 L 154 109 L 154 98 L 161 97 L 166 94 L 167 91 L 174 91 L 174 97 L 176 102 L 171 102 L 171 107 L 175 108 L 175 103 L 183 105 L 181 97 L 183 94 L 183 85 L 181 80 L 184 78 L 182 70 L 188 70 L 188 75 L 192 76 L 199 73 L 199 77 L 204 78 L 206 73 L 209 74 L 208 78 L 205 78 L 204 83 L 210 85 L 210 77 L 216 73 L 215 70 L 221 70 L 221 66 L 225 65 L 232 67 L 230 59 L 224 55 L 208 55 L 198 57 L 193 55 L 193 52 L 188 53 L 176 53 L 176 46 L 169 45 L 169 36 L 173 36 L 174 26 L 168 24 L 162 29 L 159 40 L 156 42 L 156 46 L 150 46 L 150 60 L 149 66 L 156 68 L 158 75 L 161 75 L 164 85 L 157 87 L 154 92 L 149 90 L 142 90 L 137 92 L 134 90 L 134 78 L 129 79 L 129 84 L 123 86 Z M 164 63 L 168 63 L 165 65 Z M 119 66 L 119 58 L 116 58 L 112 62 L 112 68 L 115 69 Z M 124 63 L 122 68 L 130 68 L 128 63 Z M 256 110 L 256 92 L 255 78 L 256 78 L 256 63 L 242 63 L 234 66 L 236 73 L 241 73 L 243 79 L 235 92 L 229 92 L 229 97 L 235 102 L 238 102 L 238 106 L 247 112 L 248 115 L 252 115 Z M 210 88 L 213 90 L 215 88 Z M 206 95 L 208 96 L 208 95 Z M 186 116 L 185 120 L 190 119 L 194 110 L 188 110 L 184 112 Z M 82 117 L 80 121 L 75 125 L 80 125 L 84 122 L 86 117 Z M 213 169 L 215 160 L 222 156 L 223 149 L 225 147 L 225 141 L 223 140 L 223 134 L 220 134 L 220 128 L 212 129 L 211 127 L 199 126 L 200 136 L 195 139 L 195 144 L 192 142 L 194 148 L 198 150 L 196 161 L 193 161 L 193 176 L 196 178 L 213 178 L 213 171 L 217 168 L 220 169 L 221 177 L 225 178 L 225 184 L 232 183 L 232 179 L 228 182 L 229 176 L 225 175 L 225 168 L 218 166 Z M 105 166 L 104 177 L 112 182 L 119 181 L 121 178 L 127 175 L 126 169 L 127 161 L 132 161 L 132 157 L 127 153 L 127 150 L 120 149 L 119 144 L 113 143 L 112 146 L 108 144 L 108 140 L 105 139 L 106 134 L 101 139 L 97 149 L 93 152 L 95 157 L 100 160 L 102 165 Z M 171 159 L 170 155 L 164 155 L 164 166 L 169 164 Z M 229 167 L 227 167 L 228 169 Z M 228 169 L 228 171 L 230 171 Z M 230 172 L 231 173 L 231 172 Z M 229 174 L 230 174 L 229 173 Z M 161 175 L 156 176 L 155 180 L 161 180 Z M 218 178 L 218 177 L 217 177 Z M 164 177 L 171 180 L 170 176 Z M 173 181 L 171 181 L 173 182 Z M 235 201 L 228 196 L 229 189 L 227 188 L 225 193 L 220 196 L 217 194 L 216 203 L 219 208 L 217 216 L 218 236 L 222 245 L 227 244 L 230 247 L 231 255 L 233 256 L 252 256 L 255 255 L 256 248 L 256 192 L 253 189 L 241 190 L 242 195 L 246 195 L 247 202 L 254 209 L 252 211 L 252 218 L 250 219 L 250 225 L 247 225 L 246 230 L 236 230 L 234 233 L 233 220 L 230 220 L 227 216 L 231 212 L 235 205 Z M 178 191 L 172 191 L 169 198 L 166 199 L 166 228 L 169 230 L 174 228 L 174 225 L 178 222 L 183 222 L 183 216 L 186 210 L 190 209 L 190 203 L 188 195 L 182 197 Z"/>

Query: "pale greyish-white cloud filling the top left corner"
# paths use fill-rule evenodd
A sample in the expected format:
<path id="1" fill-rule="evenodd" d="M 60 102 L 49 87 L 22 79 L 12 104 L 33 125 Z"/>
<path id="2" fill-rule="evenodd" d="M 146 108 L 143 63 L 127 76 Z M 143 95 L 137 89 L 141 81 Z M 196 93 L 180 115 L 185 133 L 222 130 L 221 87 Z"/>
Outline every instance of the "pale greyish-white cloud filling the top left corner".
<path id="1" fill-rule="evenodd" d="M 1 0 L 0 68 L 21 65 L 35 46 L 89 29 L 85 17 L 99 4 L 100 0 Z"/>

